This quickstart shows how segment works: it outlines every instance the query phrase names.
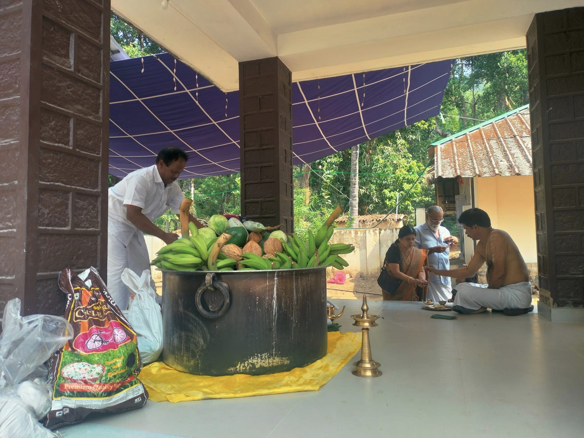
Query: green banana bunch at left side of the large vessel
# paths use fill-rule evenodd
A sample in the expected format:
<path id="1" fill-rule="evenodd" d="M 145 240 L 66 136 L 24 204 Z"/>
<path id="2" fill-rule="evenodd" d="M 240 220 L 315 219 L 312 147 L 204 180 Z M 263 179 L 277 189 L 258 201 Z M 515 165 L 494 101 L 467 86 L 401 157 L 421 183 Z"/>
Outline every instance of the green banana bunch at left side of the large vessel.
<path id="1" fill-rule="evenodd" d="M 231 238 L 222 234 L 205 240 L 197 233 L 197 227 L 189 223 L 190 238 L 176 239 L 157 252 L 150 263 L 162 270 L 233 270 L 236 260 L 221 254 L 221 247 Z M 221 243 L 223 242 L 223 243 Z"/>

